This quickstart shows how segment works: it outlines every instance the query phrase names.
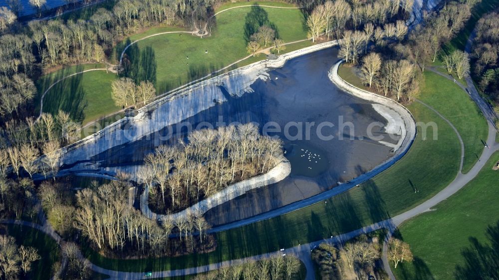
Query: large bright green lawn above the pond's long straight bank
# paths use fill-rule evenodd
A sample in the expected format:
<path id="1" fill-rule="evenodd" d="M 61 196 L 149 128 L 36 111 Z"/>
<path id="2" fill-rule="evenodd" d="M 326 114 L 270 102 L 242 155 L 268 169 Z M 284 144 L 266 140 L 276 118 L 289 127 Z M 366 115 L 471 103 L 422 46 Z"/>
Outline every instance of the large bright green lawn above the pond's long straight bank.
<path id="1" fill-rule="evenodd" d="M 128 48 L 126 53 L 132 64 L 139 68 L 147 68 L 150 61 L 156 62 L 156 73 L 148 72 L 141 76 L 141 79 L 156 81 L 157 92 L 164 93 L 248 56 L 245 17 L 251 9 L 254 8 L 241 7 L 217 15 L 217 26 L 211 36 L 200 38 L 189 34 L 182 36 L 177 33 L 164 34 L 140 41 Z M 270 7 L 259 9 L 263 9 L 260 12 L 266 13 L 269 22 L 276 26 L 278 36 L 285 42 L 306 38 L 303 29 L 304 18 L 299 9 Z M 160 32 L 170 31 L 170 28 L 160 28 L 160 30 Z M 146 34 L 149 35 L 150 31 Z M 144 35 L 135 35 L 129 41 Z M 148 47 L 152 52 L 147 53 Z M 208 50 L 208 53 L 205 53 L 205 50 Z M 264 56 L 259 57 L 262 58 Z"/>

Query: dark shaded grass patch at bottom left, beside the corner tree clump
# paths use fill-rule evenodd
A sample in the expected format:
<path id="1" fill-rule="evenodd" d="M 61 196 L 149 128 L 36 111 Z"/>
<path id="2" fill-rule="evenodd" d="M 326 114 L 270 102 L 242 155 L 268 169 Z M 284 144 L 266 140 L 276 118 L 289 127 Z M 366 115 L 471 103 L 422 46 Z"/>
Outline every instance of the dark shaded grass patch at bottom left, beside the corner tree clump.
<path id="1" fill-rule="evenodd" d="M 51 237 L 31 227 L 7 225 L 6 228 L 7 234 L 15 238 L 17 245 L 34 247 L 41 256 L 41 260 L 32 264 L 27 279 L 51 279 L 52 265 L 60 255 L 59 245 Z"/>

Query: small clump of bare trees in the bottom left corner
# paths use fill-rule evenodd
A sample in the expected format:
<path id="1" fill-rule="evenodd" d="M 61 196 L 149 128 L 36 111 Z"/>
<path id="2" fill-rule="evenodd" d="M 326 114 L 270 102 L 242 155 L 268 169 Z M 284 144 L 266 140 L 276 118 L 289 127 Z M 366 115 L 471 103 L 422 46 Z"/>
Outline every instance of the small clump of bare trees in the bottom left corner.
<path id="1" fill-rule="evenodd" d="M 31 264 L 39 259 L 40 255 L 35 248 L 17 246 L 13 237 L 0 235 L 1 279 L 17 279 L 26 275 L 31 270 Z"/>

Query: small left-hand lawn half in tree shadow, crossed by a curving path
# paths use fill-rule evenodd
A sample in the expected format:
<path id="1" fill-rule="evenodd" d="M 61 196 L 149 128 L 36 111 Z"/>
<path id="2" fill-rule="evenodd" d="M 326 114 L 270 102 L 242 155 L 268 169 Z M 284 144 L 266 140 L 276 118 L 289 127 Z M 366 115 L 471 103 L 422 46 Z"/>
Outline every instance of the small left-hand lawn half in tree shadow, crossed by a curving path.
<path id="1" fill-rule="evenodd" d="M 99 64 L 71 66 L 43 76 L 38 80 L 38 99 L 45 90 L 61 77 L 76 72 L 102 68 Z M 69 77 L 52 87 L 43 99 L 43 112 L 56 114 L 63 110 L 73 120 L 86 124 L 108 113 L 119 110 L 111 98 L 111 83 L 116 74 L 106 71 L 91 71 Z M 38 103 L 39 104 L 39 103 Z M 39 110 L 39 108 L 38 108 Z"/>

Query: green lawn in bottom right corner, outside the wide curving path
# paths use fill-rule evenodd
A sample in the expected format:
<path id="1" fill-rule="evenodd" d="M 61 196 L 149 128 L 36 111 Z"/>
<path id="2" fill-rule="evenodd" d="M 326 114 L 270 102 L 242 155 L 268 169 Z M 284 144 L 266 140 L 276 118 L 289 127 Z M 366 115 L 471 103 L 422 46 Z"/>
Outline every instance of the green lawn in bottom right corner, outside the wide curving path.
<path id="1" fill-rule="evenodd" d="M 492 170 L 498 159 L 496 152 L 475 179 L 436 205 L 436 211 L 421 214 L 400 227 L 401 237 L 410 244 L 416 261 L 392 268 L 397 279 L 484 279 L 479 272 L 489 268 L 483 260 L 491 256 L 474 244 L 490 246 L 486 235 L 489 226 L 495 228 L 498 242 L 499 171 Z M 497 262 L 496 258 L 492 262 Z M 466 267 L 467 261 L 474 264 L 473 269 L 457 273 L 456 267 Z"/>

